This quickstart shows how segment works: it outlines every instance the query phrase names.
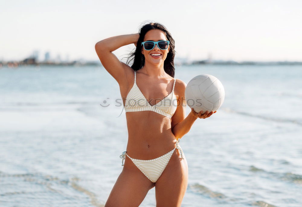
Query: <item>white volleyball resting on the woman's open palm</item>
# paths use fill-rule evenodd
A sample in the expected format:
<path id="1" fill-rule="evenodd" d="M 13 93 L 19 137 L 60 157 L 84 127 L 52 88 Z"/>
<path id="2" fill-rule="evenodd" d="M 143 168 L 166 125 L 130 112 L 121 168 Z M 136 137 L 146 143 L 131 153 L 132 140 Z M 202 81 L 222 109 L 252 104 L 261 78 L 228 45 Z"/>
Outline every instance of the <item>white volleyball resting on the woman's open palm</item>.
<path id="1" fill-rule="evenodd" d="M 199 75 L 190 80 L 185 89 L 187 105 L 195 112 L 217 111 L 224 101 L 222 83 L 212 75 Z"/>

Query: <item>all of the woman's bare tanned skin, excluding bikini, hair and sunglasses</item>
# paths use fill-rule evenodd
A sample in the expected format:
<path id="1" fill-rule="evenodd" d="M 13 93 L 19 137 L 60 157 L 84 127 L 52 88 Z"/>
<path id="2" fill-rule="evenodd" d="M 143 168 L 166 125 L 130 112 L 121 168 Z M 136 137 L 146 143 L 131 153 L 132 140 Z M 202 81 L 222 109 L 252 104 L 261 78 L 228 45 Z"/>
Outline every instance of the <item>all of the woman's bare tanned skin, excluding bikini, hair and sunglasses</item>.
<path id="1" fill-rule="evenodd" d="M 121 63 L 112 51 L 131 43 L 141 48 L 145 65 L 136 71 L 136 83 L 149 104 L 156 105 L 170 94 L 173 88 L 174 78 L 164 71 L 164 61 L 170 46 L 166 50 L 161 50 L 155 45 L 152 50 L 145 50 L 143 46 L 136 45 L 139 37 L 138 33 L 110 37 L 97 43 L 96 51 L 103 66 L 119 83 L 120 94 L 125 105 L 127 94 L 133 87 L 134 71 L 130 66 Z M 154 29 L 146 33 L 143 41 L 147 40 L 159 41 L 167 38 L 164 32 Z M 162 55 L 153 58 L 151 53 Z M 192 110 L 186 116 L 185 88 L 185 82 L 176 79 L 174 94 L 177 98 L 177 108 L 172 118 L 153 111 L 126 112 L 128 129 L 126 151 L 130 157 L 151 160 L 166 154 L 176 147 L 176 140 L 188 133 L 197 118 L 209 118 L 216 112 L 207 111 L 202 114 L 203 112 L 196 113 Z M 153 183 L 129 157 L 125 156 L 122 172 L 105 206 L 139 206 L 147 192 L 154 186 L 156 206 L 181 206 L 188 186 L 188 163 L 185 155 L 183 157 L 184 159 L 176 149 L 157 182 Z"/>

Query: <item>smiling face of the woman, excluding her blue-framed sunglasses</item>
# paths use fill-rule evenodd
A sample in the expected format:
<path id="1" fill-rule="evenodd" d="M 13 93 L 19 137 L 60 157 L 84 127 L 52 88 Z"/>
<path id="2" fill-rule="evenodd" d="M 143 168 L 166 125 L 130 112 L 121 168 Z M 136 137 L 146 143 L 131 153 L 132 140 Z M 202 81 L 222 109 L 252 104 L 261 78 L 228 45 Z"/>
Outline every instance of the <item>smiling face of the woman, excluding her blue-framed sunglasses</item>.
<path id="1" fill-rule="evenodd" d="M 153 30 L 149 30 L 144 37 L 143 42 L 145 41 L 154 41 L 157 42 L 159 40 L 167 40 L 165 33 L 162 32 L 159 29 L 153 29 Z M 166 50 L 161 50 L 157 47 L 157 44 L 154 46 L 154 48 L 152 50 L 145 50 L 145 48 L 142 45 L 142 53 L 145 56 L 145 62 L 149 62 L 153 65 L 159 65 L 159 64 L 163 64 L 164 60 L 167 57 L 167 54 L 170 50 L 170 45 L 168 47 L 168 49 Z M 152 56 L 151 54 L 153 53 L 159 53 L 161 54 L 160 56 Z"/>

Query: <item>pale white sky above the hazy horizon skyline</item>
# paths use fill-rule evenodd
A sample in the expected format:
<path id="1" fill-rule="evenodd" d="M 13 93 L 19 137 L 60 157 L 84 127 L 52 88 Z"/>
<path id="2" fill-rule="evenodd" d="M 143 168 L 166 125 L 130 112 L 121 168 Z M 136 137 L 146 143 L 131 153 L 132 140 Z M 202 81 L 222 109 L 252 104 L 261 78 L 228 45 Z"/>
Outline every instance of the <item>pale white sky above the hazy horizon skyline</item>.
<path id="1" fill-rule="evenodd" d="M 0 0 L 0 60 L 40 51 L 98 60 L 95 43 L 163 24 L 176 57 L 191 60 L 302 61 L 301 0 L 5 1 Z M 134 44 L 114 51 L 121 59 Z M 124 59 L 125 60 L 125 59 Z"/>

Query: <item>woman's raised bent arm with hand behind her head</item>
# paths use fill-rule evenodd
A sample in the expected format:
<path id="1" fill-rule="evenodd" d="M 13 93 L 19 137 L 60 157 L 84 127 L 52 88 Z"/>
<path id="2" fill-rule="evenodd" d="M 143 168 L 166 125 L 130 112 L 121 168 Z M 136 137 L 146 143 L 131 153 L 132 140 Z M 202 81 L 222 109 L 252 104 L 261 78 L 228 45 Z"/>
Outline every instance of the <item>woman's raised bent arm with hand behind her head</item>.
<path id="1" fill-rule="evenodd" d="M 112 53 L 112 51 L 128 44 L 137 44 L 139 37 L 139 33 L 124 34 L 109 37 L 95 44 L 95 51 L 98 54 L 102 65 L 120 85 L 127 85 L 127 79 L 125 79 L 125 76 L 128 74 L 129 76 L 131 76 L 133 69 L 127 64 L 118 60 L 118 58 Z"/>

